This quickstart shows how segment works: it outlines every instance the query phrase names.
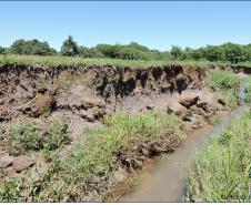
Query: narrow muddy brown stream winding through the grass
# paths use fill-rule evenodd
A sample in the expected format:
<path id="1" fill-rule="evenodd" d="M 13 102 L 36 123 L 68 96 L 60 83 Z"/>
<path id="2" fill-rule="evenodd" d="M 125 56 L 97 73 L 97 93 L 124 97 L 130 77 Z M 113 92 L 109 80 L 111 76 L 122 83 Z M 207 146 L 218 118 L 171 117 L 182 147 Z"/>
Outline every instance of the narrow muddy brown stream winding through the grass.
<path id="1" fill-rule="evenodd" d="M 244 96 L 243 83 L 240 96 Z M 214 126 L 205 126 L 188 135 L 174 153 L 157 161 L 142 173 L 140 184 L 119 202 L 183 202 L 185 194 L 184 178 L 195 150 L 203 146 L 209 137 L 220 133 L 232 117 L 238 117 L 248 106 L 237 107 L 231 115 L 222 115 Z"/>

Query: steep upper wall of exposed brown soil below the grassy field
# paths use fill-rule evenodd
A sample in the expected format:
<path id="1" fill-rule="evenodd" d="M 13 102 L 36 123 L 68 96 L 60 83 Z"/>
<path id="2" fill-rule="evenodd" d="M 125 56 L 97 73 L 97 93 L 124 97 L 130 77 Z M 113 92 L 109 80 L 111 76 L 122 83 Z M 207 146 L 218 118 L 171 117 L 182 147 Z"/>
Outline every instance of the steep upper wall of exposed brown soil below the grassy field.
<path id="1" fill-rule="evenodd" d="M 178 65 L 149 69 L 1 65 L 0 120 L 10 120 L 20 112 L 39 116 L 49 110 L 71 110 L 86 116 L 83 111 L 91 109 L 90 115 L 99 117 L 104 112 L 98 110 L 114 111 L 128 96 L 139 102 L 142 96 L 200 90 L 204 75 L 200 68 Z"/>

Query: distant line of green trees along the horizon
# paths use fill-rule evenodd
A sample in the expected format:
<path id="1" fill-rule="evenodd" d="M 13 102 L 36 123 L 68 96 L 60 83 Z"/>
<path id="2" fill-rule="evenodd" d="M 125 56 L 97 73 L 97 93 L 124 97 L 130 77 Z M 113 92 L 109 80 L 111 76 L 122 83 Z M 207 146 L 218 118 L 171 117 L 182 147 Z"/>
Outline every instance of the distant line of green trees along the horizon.
<path id="1" fill-rule="evenodd" d="M 66 55 L 82 58 L 112 58 L 122 60 L 208 60 L 221 62 L 251 61 L 251 44 L 224 43 L 222 45 L 207 45 L 199 49 L 173 45 L 170 51 L 161 52 L 132 42 L 122 44 L 98 44 L 92 48 L 79 45 L 70 35 L 63 41 L 60 52 L 51 48 L 48 42 L 33 40 L 17 40 L 10 48 L 0 47 L 0 54 L 36 54 Z"/>

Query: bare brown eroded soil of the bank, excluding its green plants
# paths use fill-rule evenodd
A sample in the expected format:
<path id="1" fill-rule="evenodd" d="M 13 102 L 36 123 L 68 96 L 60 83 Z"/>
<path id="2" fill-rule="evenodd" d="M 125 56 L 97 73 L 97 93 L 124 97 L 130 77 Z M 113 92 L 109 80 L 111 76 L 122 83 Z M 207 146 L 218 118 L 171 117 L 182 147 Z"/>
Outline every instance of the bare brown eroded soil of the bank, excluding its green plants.
<path id="1" fill-rule="evenodd" d="M 10 127 L 20 120 L 36 121 L 43 143 L 50 136 L 51 117 L 64 119 L 70 139 L 62 139 L 59 152 L 63 157 L 86 125 L 96 127 L 112 112 L 160 110 L 180 116 L 192 130 L 223 109 L 224 102 L 207 86 L 205 71 L 197 66 L 0 65 L 0 123 L 4 127 L 0 137 L 0 181 L 23 172 L 38 178 L 50 163 L 39 148 L 32 154 L 9 152 Z"/>

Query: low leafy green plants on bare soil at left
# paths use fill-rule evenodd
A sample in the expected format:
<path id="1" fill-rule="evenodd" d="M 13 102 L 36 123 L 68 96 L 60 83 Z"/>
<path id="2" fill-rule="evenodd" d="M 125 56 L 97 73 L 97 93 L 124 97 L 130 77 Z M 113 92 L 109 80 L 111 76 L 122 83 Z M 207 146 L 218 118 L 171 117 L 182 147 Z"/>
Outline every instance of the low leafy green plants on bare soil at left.
<path id="1" fill-rule="evenodd" d="M 49 153 L 70 142 L 67 129 L 63 119 L 51 119 L 48 131 L 42 134 L 36 122 L 20 120 L 10 127 L 8 140 L 11 146 L 9 153 L 20 155 L 40 150 Z"/>

